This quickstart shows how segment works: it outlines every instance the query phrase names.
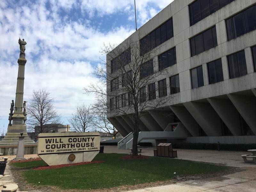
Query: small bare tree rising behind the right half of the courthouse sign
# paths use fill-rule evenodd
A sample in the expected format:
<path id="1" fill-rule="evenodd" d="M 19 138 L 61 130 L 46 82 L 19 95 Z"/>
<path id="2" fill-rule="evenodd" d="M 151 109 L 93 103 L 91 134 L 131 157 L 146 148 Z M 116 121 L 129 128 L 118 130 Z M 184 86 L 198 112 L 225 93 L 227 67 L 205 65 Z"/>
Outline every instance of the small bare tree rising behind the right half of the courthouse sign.
<path id="1" fill-rule="evenodd" d="M 72 129 L 76 132 L 91 131 L 93 128 L 94 115 L 90 112 L 90 106 L 84 103 L 77 105 L 75 112 L 68 118 L 68 122 L 72 125 Z"/>

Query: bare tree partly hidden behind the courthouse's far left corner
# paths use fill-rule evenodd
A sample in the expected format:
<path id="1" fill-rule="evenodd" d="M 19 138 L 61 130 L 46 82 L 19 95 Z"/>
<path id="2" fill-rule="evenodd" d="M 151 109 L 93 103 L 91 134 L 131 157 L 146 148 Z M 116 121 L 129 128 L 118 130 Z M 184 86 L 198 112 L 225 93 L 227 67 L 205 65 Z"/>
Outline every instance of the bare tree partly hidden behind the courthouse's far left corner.
<path id="1" fill-rule="evenodd" d="M 110 135 L 113 135 L 113 137 L 116 139 L 116 135 L 117 135 L 118 131 L 109 122 L 109 120 L 107 118 L 108 105 L 106 102 L 106 96 L 97 98 L 97 100 L 98 100 L 98 102 L 92 104 L 92 111 L 94 111 L 94 114 L 95 114 L 92 123 L 99 130 L 99 132 L 108 133 Z M 101 105 L 100 102 L 105 103 L 105 104 Z"/>

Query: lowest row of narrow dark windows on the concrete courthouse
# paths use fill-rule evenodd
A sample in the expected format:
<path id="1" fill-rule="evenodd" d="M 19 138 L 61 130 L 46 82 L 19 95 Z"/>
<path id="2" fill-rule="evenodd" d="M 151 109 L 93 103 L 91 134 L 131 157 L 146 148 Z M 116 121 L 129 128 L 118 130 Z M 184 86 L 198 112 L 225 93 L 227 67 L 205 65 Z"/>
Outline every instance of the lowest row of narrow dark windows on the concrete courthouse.
<path id="1" fill-rule="evenodd" d="M 256 71 L 256 46 L 252 47 L 252 57 L 253 57 L 253 66 L 254 71 Z M 246 59 L 245 59 L 245 52 L 240 51 L 234 54 L 227 56 L 228 60 L 228 73 L 229 78 L 235 78 L 239 76 L 244 76 L 247 74 L 247 66 L 246 66 Z M 221 59 L 212 61 L 207 63 L 207 71 L 208 71 L 208 78 L 209 84 L 217 83 L 223 81 L 223 70 L 222 70 L 222 62 Z M 191 76 L 191 86 L 192 89 L 204 86 L 204 76 L 203 76 L 203 67 L 199 66 L 197 68 L 190 70 Z M 159 97 L 163 97 L 167 95 L 166 89 L 166 79 L 158 81 L 159 87 Z M 115 91 L 118 89 L 118 82 L 117 79 L 111 81 L 111 91 Z M 155 85 L 150 85 L 149 95 L 150 92 L 155 91 Z M 179 75 L 170 77 L 170 92 L 171 94 L 180 92 L 180 82 L 179 82 Z M 141 92 L 141 97 L 146 94 L 146 88 L 143 88 Z M 154 95 L 150 95 L 149 99 L 155 99 Z"/>

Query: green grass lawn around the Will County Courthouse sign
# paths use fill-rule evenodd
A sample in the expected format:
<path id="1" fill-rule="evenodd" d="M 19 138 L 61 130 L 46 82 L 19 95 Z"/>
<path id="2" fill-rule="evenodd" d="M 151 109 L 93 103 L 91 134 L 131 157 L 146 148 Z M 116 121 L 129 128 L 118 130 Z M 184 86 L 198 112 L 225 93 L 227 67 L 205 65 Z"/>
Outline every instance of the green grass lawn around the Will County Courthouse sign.
<path id="1" fill-rule="evenodd" d="M 59 169 L 33 170 L 45 166 L 43 161 L 13 163 L 14 167 L 26 168 L 25 180 L 34 185 L 51 185 L 63 189 L 99 189 L 123 185 L 170 180 L 177 175 L 188 176 L 226 171 L 228 168 L 214 164 L 163 157 L 123 160 L 126 154 L 98 154 L 94 160 L 100 164 L 84 164 Z M 176 174 L 174 174 L 176 172 Z M 38 183 L 40 182 L 40 183 Z"/>

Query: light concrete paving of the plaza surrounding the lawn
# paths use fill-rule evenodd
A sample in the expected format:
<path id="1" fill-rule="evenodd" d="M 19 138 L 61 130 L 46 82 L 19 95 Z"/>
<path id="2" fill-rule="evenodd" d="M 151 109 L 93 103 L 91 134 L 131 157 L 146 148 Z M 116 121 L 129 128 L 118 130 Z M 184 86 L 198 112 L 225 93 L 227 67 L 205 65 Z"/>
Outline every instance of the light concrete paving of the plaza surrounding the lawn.
<path id="1" fill-rule="evenodd" d="M 218 163 L 227 166 L 240 167 L 244 169 L 225 176 L 213 177 L 203 180 L 190 180 L 179 182 L 172 185 L 165 185 L 152 188 L 132 190 L 130 192 L 255 192 L 256 191 L 256 165 L 245 164 L 241 157 L 242 154 L 248 154 L 244 151 L 214 151 L 214 150 L 191 150 L 177 149 L 178 158 L 191 161 L 200 161 L 207 163 Z M 142 154 L 153 156 L 153 148 L 145 148 Z M 104 153 L 130 153 L 130 150 L 117 149 L 116 146 L 105 146 Z M 15 156 L 8 156 L 11 161 Z M 26 158 L 35 158 L 37 155 L 25 155 Z M 163 157 L 164 158 L 164 157 Z M 5 177 L 1 180 L 3 183 L 13 183 L 13 177 L 9 165 L 5 170 Z M 37 191 L 37 190 L 34 190 Z"/>

